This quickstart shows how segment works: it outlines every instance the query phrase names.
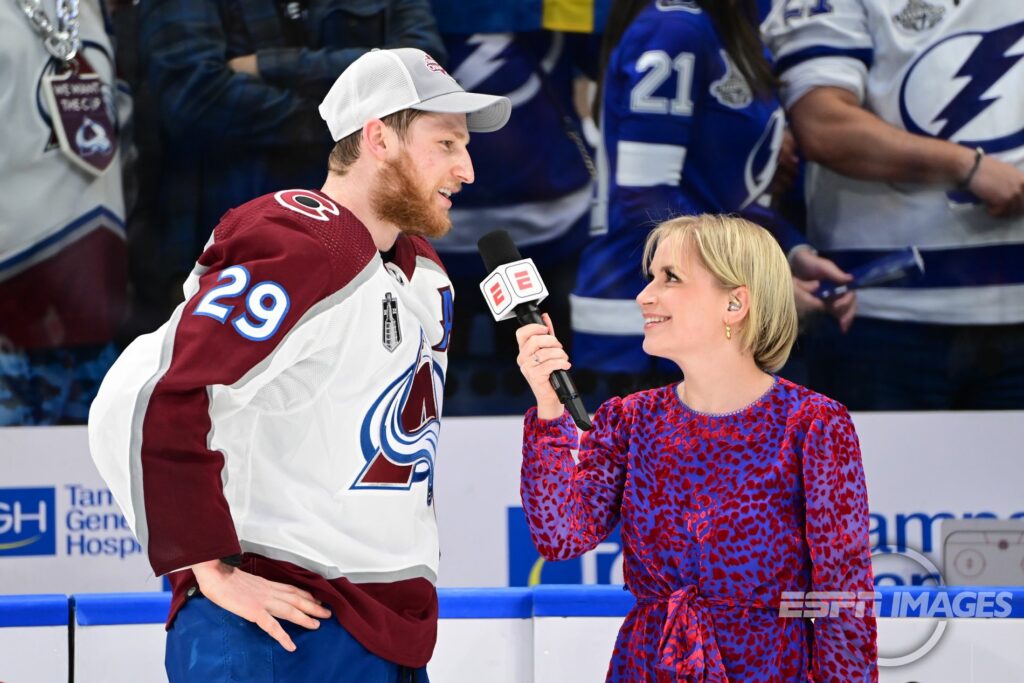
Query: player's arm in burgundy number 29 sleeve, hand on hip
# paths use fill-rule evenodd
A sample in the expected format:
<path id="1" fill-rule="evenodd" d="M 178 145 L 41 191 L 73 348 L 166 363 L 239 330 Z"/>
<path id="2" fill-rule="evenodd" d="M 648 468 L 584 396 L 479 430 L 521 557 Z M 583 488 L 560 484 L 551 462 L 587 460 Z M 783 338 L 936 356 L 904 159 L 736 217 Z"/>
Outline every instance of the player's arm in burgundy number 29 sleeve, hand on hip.
<path id="1" fill-rule="evenodd" d="M 283 217 L 285 209 L 268 204 L 258 215 L 228 213 L 200 257 L 196 289 L 167 331 L 166 366 L 138 403 L 140 474 L 131 500 L 141 503 L 134 506 L 139 539 L 157 575 L 193 569 L 211 601 L 293 650 L 278 618 L 315 628 L 312 617 L 327 611 L 305 591 L 221 561 L 242 552 L 222 476 L 225 461 L 245 454 L 211 445 L 222 419 L 211 388 L 269 381 L 267 358 L 284 351 L 306 312 L 349 275 L 295 219 Z"/>

